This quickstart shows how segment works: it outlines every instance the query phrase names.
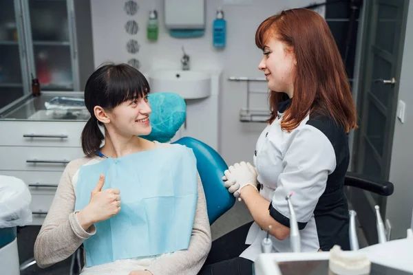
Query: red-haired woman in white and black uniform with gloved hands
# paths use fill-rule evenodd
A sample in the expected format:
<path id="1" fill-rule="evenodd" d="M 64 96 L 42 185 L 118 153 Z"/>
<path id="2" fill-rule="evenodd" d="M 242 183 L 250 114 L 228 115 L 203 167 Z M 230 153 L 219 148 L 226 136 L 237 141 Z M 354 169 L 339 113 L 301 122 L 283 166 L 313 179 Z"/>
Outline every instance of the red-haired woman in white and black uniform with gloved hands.
<path id="1" fill-rule="evenodd" d="M 286 10 L 261 23 L 255 43 L 264 54 L 258 67 L 271 90 L 271 118 L 257 140 L 255 169 L 241 162 L 224 177 L 254 221 L 214 241 L 200 274 L 252 274 L 269 225 L 273 251 L 290 252 L 291 192 L 301 251 L 350 246 L 343 184 L 357 114 L 330 29 L 316 12 Z"/>

